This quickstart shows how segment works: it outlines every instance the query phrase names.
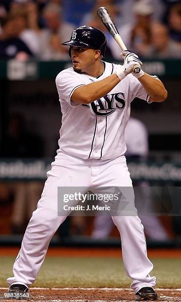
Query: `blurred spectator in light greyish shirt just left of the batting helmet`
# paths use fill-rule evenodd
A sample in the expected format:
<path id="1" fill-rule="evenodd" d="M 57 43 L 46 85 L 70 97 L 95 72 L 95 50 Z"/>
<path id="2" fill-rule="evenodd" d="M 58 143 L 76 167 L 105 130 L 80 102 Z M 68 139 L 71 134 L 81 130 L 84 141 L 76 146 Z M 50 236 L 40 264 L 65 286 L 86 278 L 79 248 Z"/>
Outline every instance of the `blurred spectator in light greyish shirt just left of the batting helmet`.
<path id="1" fill-rule="evenodd" d="M 60 6 L 56 4 L 47 4 L 43 10 L 43 18 L 46 22 L 46 29 L 42 30 L 40 35 L 40 58 L 51 60 L 56 53 L 59 59 L 69 59 L 68 47 L 58 48 L 59 43 L 70 39 L 75 27 L 72 24 L 62 22 Z"/>

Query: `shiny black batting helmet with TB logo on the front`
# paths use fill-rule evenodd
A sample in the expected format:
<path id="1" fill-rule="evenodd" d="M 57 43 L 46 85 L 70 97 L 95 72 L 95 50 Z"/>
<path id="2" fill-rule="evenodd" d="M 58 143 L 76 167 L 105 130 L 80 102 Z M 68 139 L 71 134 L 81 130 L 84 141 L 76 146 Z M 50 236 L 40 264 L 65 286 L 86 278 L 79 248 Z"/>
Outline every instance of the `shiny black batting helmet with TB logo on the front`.
<path id="1" fill-rule="evenodd" d="M 105 56 L 106 36 L 97 28 L 91 26 L 80 26 L 76 28 L 71 35 L 69 41 L 61 43 L 62 45 L 70 45 L 69 55 L 71 56 L 71 47 L 89 47 L 92 49 L 100 49 L 102 57 Z"/>

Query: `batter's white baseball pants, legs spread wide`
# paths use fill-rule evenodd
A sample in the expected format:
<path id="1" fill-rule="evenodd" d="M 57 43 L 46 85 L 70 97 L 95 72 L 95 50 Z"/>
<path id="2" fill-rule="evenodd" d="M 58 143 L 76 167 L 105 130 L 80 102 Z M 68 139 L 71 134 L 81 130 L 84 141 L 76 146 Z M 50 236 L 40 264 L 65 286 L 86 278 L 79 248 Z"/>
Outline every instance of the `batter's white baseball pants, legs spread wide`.
<path id="1" fill-rule="evenodd" d="M 13 265 L 14 276 L 7 279 L 30 286 L 45 259 L 50 240 L 66 216 L 58 216 L 58 187 L 131 187 L 132 182 L 124 156 L 109 160 L 73 157 L 60 151 L 47 173 L 48 179 L 26 229 L 20 252 Z M 131 288 L 137 293 L 152 287 L 156 278 L 147 257 L 144 231 L 138 216 L 113 216 L 121 234 L 122 259 Z"/>

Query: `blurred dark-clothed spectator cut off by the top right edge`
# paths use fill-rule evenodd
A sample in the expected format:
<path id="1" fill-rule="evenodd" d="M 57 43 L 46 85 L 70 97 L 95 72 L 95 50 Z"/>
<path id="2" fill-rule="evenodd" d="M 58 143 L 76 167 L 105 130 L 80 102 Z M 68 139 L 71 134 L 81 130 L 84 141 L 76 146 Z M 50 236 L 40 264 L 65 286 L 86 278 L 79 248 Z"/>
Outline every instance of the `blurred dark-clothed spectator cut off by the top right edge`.
<path id="1" fill-rule="evenodd" d="M 181 2 L 172 6 L 168 16 L 170 37 L 181 47 Z"/>

